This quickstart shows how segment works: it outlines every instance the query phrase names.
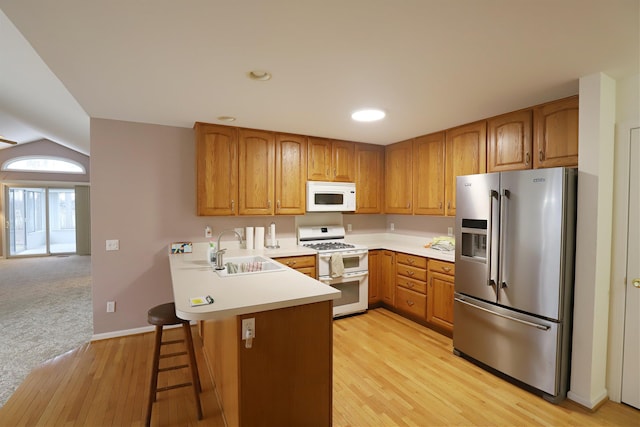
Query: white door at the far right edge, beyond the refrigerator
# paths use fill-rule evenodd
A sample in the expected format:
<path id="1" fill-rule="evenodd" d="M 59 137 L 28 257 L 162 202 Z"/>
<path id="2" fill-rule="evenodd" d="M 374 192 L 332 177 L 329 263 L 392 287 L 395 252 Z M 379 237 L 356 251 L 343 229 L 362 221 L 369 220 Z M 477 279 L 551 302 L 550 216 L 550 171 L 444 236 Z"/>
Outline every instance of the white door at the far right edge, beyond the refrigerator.
<path id="1" fill-rule="evenodd" d="M 622 402 L 640 409 L 640 128 L 631 131 Z"/>

